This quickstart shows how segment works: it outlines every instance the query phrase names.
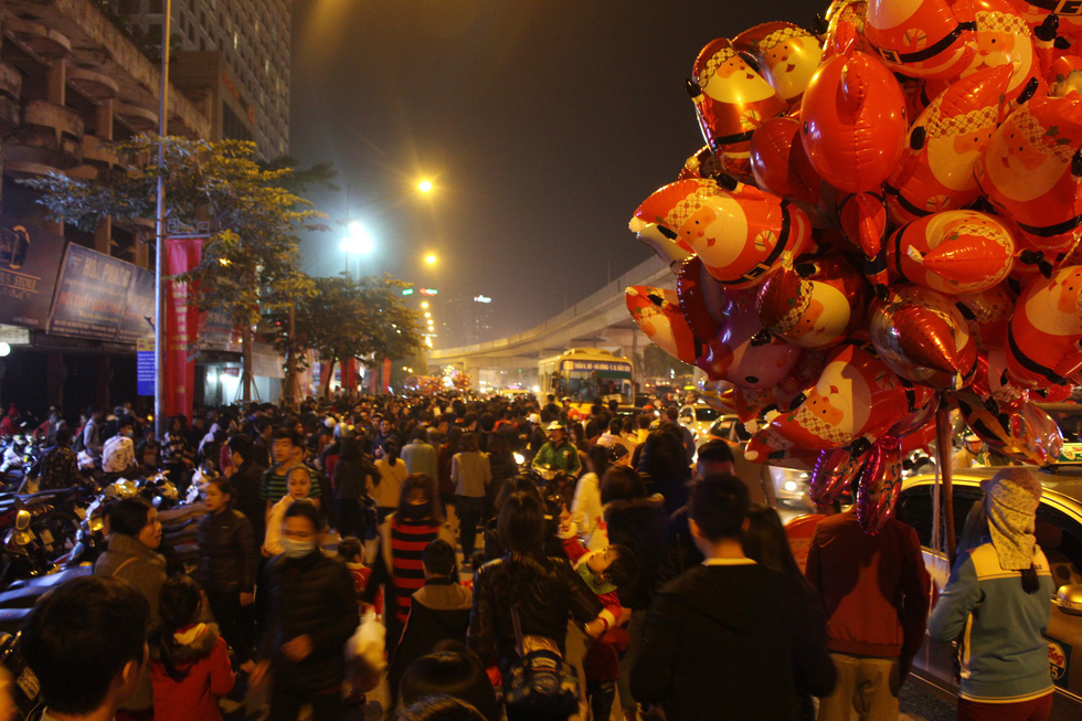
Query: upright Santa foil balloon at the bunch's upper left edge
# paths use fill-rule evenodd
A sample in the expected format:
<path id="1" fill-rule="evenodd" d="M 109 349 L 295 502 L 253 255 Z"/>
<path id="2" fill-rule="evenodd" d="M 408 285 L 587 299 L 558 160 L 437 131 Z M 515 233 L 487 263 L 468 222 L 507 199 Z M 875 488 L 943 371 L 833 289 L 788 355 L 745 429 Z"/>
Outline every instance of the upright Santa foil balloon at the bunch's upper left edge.
<path id="1" fill-rule="evenodd" d="M 725 38 L 699 52 L 688 83 L 707 145 L 738 176 L 751 174 L 752 131 L 787 105 L 763 77 L 736 54 Z"/>

